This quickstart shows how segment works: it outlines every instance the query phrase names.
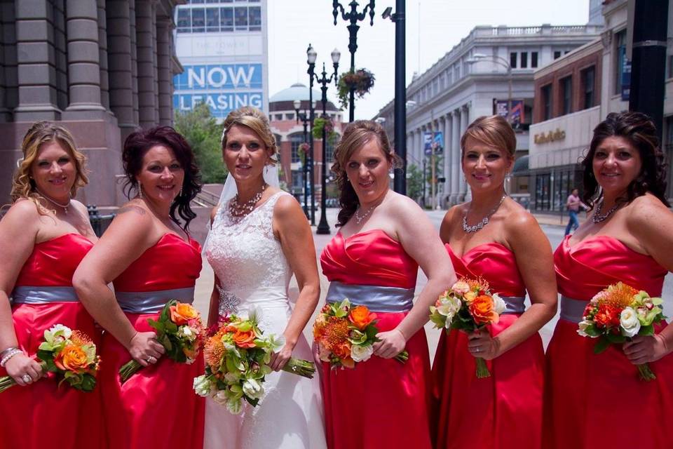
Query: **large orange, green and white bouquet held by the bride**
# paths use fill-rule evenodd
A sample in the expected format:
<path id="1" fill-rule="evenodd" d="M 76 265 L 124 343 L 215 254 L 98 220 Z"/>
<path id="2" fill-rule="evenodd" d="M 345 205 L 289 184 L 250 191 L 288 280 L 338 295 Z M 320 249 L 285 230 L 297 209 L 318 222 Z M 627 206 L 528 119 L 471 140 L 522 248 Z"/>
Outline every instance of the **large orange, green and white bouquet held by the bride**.
<path id="1" fill-rule="evenodd" d="M 213 400 L 234 415 L 243 411 L 243 400 L 257 406 L 264 395 L 264 376 L 271 373 L 271 353 L 283 343 L 272 334 L 262 337 L 259 311 L 252 309 L 247 319 L 227 316 L 203 348 L 205 374 L 194 378 L 194 391 Z M 290 358 L 287 373 L 311 379 L 313 362 Z"/>

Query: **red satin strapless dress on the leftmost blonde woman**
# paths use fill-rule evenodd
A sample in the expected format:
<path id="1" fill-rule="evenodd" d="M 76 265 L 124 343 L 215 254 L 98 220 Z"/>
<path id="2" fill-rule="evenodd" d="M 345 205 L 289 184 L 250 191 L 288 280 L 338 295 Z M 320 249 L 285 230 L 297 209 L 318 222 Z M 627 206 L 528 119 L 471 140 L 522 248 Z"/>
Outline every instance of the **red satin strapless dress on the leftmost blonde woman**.
<path id="1" fill-rule="evenodd" d="M 92 247 L 93 243 L 80 234 L 37 243 L 16 279 L 15 293 L 24 287 L 34 292 L 72 288 L 72 274 Z M 74 298 L 73 290 L 67 301 L 13 304 L 18 347 L 34 356 L 44 340 L 44 331 L 62 324 L 86 333 L 100 354 L 100 330 Z M 6 370 L 0 368 L 0 376 L 4 375 Z M 54 375 L 48 374 L 27 387 L 15 385 L 0 393 L 0 448 L 107 447 L 100 391 L 100 377 L 93 391 L 84 392 L 68 384 L 58 387 Z"/>

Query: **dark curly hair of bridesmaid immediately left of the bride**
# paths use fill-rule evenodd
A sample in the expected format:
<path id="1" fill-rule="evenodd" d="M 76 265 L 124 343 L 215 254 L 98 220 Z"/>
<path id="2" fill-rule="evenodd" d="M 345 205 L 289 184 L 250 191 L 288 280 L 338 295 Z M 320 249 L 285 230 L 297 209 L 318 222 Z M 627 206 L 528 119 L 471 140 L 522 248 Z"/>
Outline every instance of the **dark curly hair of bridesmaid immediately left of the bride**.
<path id="1" fill-rule="evenodd" d="M 189 228 L 189 222 L 196 218 L 196 213 L 191 210 L 190 203 L 196 197 L 196 194 L 201 191 L 200 173 L 194 161 L 194 154 L 191 151 L 189 143 L 170 126 L 156 126 L 147 130 L 138 130 L 126 138 L 124 151 L 121 156 L 126 174 L 126 196 L 130 199 L 131 189 L 137 190 L 137 180 L 135 177 L 140 173 L 142 168 L 142 158 L 144 158 L 151 147 L 156 147 L 157 145 L 172 149 L 175 159 L 179 161 L 180 166 L 184 169 L 182 195 L 176 196 L 170 205 L 170 217 L 177 225 L 182 226 L 175 215 L 175 211 L 177 210 L 177 215 L 185 221 L 182 228 L 186 231 Z"/>

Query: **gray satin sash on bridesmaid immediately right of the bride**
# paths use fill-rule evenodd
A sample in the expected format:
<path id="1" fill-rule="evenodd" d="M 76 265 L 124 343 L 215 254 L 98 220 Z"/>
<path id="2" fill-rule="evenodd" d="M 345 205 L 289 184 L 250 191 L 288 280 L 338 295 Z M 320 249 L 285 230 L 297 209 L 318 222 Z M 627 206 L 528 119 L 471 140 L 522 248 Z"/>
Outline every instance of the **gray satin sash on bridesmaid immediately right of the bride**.
<path id="1" fill-rule="evenodd" d="M 353 304 L 367 306 L 371 311 L 399 312 L 414 307 L 414 288 L 362 286 L 337 281 L 329 283 L 327 302 L 348 298 Z"/>

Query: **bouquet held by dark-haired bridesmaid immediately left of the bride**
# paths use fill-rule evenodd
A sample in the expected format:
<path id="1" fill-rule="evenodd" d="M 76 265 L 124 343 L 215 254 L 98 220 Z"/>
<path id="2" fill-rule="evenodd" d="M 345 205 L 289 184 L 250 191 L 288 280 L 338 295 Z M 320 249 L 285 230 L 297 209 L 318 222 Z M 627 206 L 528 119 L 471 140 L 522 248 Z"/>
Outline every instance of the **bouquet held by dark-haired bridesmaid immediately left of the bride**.
<path id="1" fill-rule="evenodd" d="M 159 320 L 148 319 L 156 329 L 156 340 L 166 349 L 165 355 L 179 363 L 193 363 L 203 344 L 203 323 L 198 311 L 191 304 L 170 300 L 166 302 Z M 121 383 L 137 373 L 143 366 L 135 360 L 119 368 Z"/>

